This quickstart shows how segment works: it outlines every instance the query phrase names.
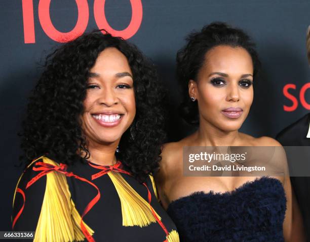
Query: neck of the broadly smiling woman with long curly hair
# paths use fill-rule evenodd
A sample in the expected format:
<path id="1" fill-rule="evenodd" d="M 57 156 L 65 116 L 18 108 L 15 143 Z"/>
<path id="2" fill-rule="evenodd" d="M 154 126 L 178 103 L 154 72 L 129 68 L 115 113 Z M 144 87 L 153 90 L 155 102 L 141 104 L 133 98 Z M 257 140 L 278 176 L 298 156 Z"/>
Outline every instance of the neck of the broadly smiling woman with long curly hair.
<path id="1" fill-rule="evenodd" d="M 117 149 L 118 144 L 119 142 L 113 142 L 106 145 L 88 142 L 90 157 L 87 160 L 98 165 L 115 164 L 117 162 L 115 150 Z"/>

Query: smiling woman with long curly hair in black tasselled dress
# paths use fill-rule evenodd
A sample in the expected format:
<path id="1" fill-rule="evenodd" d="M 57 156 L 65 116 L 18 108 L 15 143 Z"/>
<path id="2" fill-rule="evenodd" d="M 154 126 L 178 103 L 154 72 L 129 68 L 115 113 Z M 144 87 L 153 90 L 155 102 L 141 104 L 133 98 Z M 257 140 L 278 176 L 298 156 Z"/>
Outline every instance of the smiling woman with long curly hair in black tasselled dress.
<path id="1" fill-rule="evenodd" d="M 152 65 L 94 31 L 45 67 L 23 123 L 13 229 L 35 241 L 179 241 L 151 176 L 165 137 Z"/>

